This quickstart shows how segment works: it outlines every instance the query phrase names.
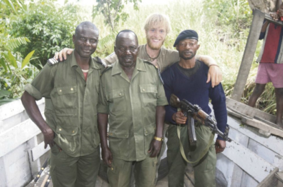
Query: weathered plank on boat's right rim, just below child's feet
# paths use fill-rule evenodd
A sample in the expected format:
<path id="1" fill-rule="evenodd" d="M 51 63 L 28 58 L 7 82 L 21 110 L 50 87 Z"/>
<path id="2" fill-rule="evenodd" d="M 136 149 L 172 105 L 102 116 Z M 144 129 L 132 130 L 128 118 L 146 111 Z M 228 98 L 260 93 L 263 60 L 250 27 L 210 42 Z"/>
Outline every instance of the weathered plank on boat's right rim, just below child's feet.
<path id="1" fill-rule="evenodd" d="M 256 127 L 256 128 L 261 129 L 265 132 L 269 132 L 271 134 L 274 134 L 276 136 L 283 138 L 283 129 L 280 129 L 278 127 L 272 127 L 272 126 L 267 125 L 266 123 L 264 123 L 262 121 L 242 117 L 242 123 L 250 125 L 252 127 Z"/>

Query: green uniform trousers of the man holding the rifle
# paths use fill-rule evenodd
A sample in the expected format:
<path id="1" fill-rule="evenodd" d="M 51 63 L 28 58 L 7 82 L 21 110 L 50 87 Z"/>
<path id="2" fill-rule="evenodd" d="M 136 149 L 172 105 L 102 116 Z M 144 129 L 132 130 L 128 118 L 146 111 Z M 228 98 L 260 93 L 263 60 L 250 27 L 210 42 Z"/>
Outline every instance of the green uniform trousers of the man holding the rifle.
<path id="1" fill-rule="evenodd" d="M 207 147 L 212 131 L 209 127 L 195 122 L 195 132 L 197 144 L 195 147 L 189 145 L 187 126 L 181 126 L 181 142 L 188 160 L 197 160 L 201 152 Z M 177 135 L 177 125 L 170 125 L 168 128 L 167 141 L 167 160 L 169 167 L 168 186 L 183 187 L 184 174 L 187 162 L 183 159 L 180 152 L 179 138 Z M 198 162 L 194 163 L 195 187 L 215 187 L 215 166 L 216 152 L 214 141 L 211 143 L 207 154 Z"/>

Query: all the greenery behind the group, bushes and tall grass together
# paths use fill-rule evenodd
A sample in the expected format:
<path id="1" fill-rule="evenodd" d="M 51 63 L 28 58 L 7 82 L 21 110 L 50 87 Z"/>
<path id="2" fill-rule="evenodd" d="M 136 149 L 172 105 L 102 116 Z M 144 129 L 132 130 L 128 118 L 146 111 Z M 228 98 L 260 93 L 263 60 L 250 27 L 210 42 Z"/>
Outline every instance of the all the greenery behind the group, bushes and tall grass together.
<path id="1" fill-rule="evenodd" d="M 252 20 L 247 0 L 168 0 L 162 4 L 146 0 L 143 3 L 96 0 L 91 5 L 82 2 L 65 1 L 59 5 L 54 0 L 0 0 L 0 104 L 20 97 L 24 84 L 33 79 L 55 51 L 73 47 L 71 36 L 81 21 L 92 21 L 99 28 L 100 40 L 94 55 L 103 58 L 113 52 L 115 36 L 122 29 L 133 30 L 139 43 L 146 43 L 144 21 L 153 12 L 170 18 L 172 32 L 164 43 L 167 48 L 173 49 L 182 30 L 198 32 L 201 44 L 198 54 L 210 55 L 218 62 L 226 95 L 231 95 Z M 261 44 L 258 42 L 255 59 Z M 257 66 L 252 65 L 243 102 L 254 88 Z M 275 114 L 272 84 L 267 85 L 258 103 L 262 110 Z"/>

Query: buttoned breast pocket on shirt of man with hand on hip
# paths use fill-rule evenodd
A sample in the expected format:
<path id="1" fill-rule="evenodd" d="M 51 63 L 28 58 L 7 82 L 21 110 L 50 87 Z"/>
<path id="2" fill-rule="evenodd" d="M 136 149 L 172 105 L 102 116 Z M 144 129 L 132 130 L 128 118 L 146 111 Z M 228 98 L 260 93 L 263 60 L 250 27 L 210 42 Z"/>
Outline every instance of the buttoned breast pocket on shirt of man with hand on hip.
<path id="1" fill-rule="evenodd" d="M 75 116 L 77 108 L 77 85 L 56 88 L 56 103 L 53 103 L 57 116 Z"/>

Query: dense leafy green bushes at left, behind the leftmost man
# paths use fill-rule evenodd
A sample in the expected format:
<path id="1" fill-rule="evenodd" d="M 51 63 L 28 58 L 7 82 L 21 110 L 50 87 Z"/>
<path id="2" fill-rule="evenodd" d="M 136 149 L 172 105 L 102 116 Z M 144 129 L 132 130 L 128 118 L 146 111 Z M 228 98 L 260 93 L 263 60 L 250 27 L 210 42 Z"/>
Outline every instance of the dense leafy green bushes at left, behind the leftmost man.
<path id="1" fill-rule="evenodd" d="M 54 0 L 6 0 L 0 8 L 1 105 L 20 97 L 56 51 L 72 46 L 70 36 L 81 19 L 78 6 L 61 7 Z"/>

